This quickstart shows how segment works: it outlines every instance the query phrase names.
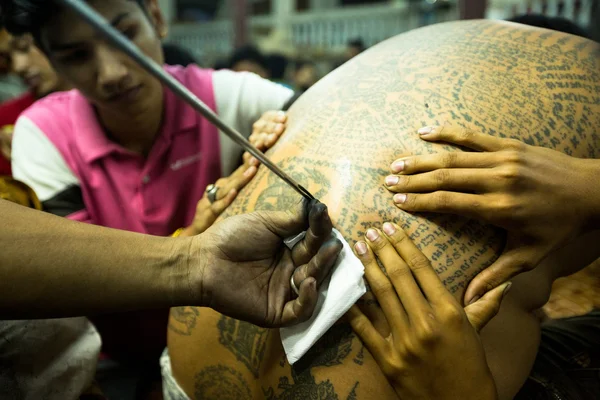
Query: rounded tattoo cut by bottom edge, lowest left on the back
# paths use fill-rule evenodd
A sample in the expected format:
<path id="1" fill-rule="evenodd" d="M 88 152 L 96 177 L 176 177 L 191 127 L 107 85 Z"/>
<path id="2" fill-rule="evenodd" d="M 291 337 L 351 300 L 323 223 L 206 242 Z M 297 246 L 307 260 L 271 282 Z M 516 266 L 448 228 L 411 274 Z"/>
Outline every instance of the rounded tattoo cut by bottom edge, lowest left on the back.
<path id="1" fill-rule="evenodd" d="M 248 382 L 241 373 L 224 365 L 204 368 L 196 374 L 195 398 L 219 400 L 251 400 Z"/>

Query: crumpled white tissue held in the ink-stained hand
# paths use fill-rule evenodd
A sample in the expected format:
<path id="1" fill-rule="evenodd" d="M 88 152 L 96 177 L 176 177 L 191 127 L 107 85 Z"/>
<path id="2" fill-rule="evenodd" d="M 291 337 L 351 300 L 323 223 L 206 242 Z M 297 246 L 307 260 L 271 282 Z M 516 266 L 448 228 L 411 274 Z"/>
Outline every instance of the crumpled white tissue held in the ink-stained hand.
<path id="1" fill-rule="evenodd" d="M 363 276 L 365 269 L 354 255 L 344 237 L 333 230 L 342 241 L 343 249 L 332 273 L 319 287 L 319 300 L 313 316 L 306 322 L 279 330 L 288 362 L 293 365 L 367 292 Z M 285 241 L 293 247 L 304 236 Z"/>

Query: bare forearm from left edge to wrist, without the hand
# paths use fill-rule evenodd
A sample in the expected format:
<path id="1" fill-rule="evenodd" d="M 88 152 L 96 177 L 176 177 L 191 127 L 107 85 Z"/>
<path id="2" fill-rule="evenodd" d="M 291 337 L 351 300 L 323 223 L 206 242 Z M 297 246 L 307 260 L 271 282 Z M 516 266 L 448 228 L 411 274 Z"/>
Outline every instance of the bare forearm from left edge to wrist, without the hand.
<path id="1" fill-rule="evenodd" d="M 3 200 L 0 215 L 0 319 L 170 307 L 189 296 L 190 239 L 71 222 Z"/>

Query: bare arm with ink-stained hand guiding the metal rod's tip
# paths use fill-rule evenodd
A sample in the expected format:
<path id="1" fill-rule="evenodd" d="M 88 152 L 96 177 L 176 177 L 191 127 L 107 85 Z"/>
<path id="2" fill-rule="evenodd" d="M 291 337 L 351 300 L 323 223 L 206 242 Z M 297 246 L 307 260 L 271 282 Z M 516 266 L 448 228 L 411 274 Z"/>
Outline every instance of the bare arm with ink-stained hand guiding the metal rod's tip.
<path id="1" fill-rule="evenodd" d="M 182 239 L 72 222 L 5 200 L 0 215 L 0 319 L 192 304 L 256 325 L 293 325 L 312 315 L 342 247 L 316 200 L 228 218 Z M 302 231 L 293 249 L 283 244 Z"/>

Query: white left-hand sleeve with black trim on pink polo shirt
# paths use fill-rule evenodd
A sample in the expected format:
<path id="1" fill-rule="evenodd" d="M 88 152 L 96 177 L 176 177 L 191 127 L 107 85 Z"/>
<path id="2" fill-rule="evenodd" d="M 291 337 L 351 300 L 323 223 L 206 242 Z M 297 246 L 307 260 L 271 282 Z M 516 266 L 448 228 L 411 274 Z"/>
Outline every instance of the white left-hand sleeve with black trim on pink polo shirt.
<path id="1" fill-rule="evenodd" d="M 12 170 L 16 180 L 33 189 L 45 211 L 61 217 L 85 211 L 79 179 L 50 139 L 27 117 L 19 118 L 15 125 Z"/>

